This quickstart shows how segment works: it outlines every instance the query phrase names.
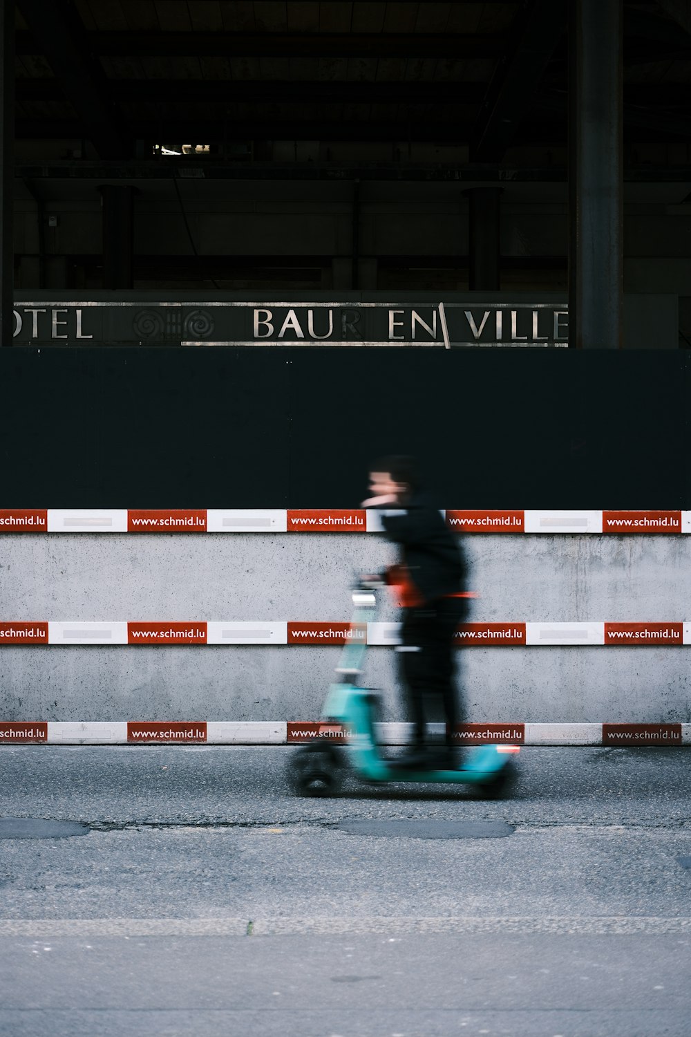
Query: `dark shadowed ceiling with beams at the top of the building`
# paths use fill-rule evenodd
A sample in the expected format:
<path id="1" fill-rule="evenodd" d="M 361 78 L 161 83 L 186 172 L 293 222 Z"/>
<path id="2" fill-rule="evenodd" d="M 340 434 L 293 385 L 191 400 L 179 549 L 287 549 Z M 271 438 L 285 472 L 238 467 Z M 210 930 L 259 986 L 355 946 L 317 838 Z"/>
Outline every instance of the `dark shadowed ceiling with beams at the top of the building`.
<path id="1" fill-rule="evenodd" d="M 563 162 L 568 4 L 18 0 L 18 155 Z M 624 3 L 626 162 L 689 163 L 691 5 Z M 33 142 L 33 143 L 32 143 Z M 52 142 L 52 143 L 49 143 Z M 59 150 L 64 142 L 64 150 Z M 58 151 L 56 151 L 58 148 Z M 449 149 L 453 150 L 449 150 Z M 674 148 L 676 150 L 674 151 Z"/>

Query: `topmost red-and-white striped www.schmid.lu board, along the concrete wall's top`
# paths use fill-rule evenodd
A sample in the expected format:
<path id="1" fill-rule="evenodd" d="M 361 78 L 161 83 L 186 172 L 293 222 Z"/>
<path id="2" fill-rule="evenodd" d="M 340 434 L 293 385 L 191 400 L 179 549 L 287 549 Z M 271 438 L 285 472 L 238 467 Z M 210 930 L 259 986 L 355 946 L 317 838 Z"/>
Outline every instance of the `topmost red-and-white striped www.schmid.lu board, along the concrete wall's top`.
<path id="1" fill-rule="evenodd" d="M 392 513 L 395 513 L 393 509 Z M 441 510 L 458 533 L 691 533 L 691 511 Z M 380 533 L 376 508 L 4 508 L 1 533 Z"/>

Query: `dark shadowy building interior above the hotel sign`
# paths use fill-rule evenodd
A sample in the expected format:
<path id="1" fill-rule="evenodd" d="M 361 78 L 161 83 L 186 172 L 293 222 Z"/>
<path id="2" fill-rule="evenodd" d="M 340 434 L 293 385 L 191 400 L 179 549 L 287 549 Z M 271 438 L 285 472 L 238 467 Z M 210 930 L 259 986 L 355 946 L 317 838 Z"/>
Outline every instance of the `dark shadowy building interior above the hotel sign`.
<path id="1" fill-rule="evenodd" d="M 566 296 L 609 165 L 583 220 L 689 345 L 687 2 L 17 0 L 4 35 L 18 289 Z"/>

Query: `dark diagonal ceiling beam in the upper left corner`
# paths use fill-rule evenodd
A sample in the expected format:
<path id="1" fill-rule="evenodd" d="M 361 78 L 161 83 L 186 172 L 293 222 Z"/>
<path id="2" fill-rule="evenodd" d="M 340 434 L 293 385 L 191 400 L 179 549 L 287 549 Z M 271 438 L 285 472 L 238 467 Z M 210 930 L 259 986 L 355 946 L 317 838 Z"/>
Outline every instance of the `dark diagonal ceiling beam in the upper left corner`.
<path id="1" fill-rule="evenodd" d="M 75 109 L 78 136 L 88 138 L 103 159 L 127 158 L 132 146 L 118 123 L 106 89 L 106 77 L 89 53 L 75 8 L 65 0 L 19 0 L 31 33 Z"/>

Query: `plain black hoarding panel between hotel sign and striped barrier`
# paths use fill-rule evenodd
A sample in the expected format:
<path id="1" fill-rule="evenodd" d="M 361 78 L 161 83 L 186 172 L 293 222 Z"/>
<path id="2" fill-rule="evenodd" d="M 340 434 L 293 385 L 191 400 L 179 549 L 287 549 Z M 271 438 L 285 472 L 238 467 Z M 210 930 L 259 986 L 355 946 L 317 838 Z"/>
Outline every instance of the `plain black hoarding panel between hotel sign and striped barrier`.
<path id="1" fill-rule="evenodd" d="M 691 508 L 685 352 L 0 351 L 2 507 Z"/>

